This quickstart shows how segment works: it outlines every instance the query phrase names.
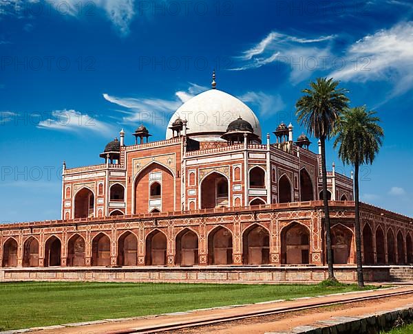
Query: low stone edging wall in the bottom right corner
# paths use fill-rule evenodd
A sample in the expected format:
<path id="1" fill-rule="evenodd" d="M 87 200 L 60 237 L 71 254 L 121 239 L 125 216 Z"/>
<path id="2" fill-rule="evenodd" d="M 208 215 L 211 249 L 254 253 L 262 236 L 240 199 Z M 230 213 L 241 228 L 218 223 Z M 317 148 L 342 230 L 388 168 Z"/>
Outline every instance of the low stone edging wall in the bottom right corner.
<path id="1" fill-rule="evenodd" d="M 413 321 L 413 304 L 392 311 L 377 312 L 357 317 L 333 317 L 319 320 L 308 326 L 298 326 L 289 331 L 267 332 L 265 334 L 373 334 L 394 326 Z"/>

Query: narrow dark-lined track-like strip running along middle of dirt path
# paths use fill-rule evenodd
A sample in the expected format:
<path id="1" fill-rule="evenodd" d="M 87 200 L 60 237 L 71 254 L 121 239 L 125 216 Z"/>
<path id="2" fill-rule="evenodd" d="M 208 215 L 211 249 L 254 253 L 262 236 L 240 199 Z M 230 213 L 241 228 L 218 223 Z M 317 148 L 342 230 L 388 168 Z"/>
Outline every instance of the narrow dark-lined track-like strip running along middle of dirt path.
<path id="1" fill-rule="evenodd" d="M 388 293 L 374 295 L 374 296 L 354 296 L 346 300 L 332 300 L 328 302 L 314 302 L 312 304 L 297 306 L 297 307 L 275 307 L 273 309 L 266 309 L 264 311 L 250 311 L 242 315 L 228 315 L 228 316 L 215 316 L 207 320 L 183 320 L 178 322 L 169 322 L 168 324 L 155 324 L 150 326 L 136 327 L 134 329 L 113 331 L 110 334 L 135 334 L 135 333 L 160 333 L 167 331 L 178 331 L 182 329 L 191 329 L 201 326 L 210 326 L 213 324 L 220 324 L 224 322 L 233 322 L 236 320 L 244 320 L 248 318 L 257 318 L 265 315 L 277 315 L 283 313 L 290 313 L 295 311 L 304 311 L 308 309 L 316 309 L 318 307 L 326 307 L 337 304 L 349 304 L 352 302 L 363 302 L 366 300 L 377 300 L 381 298 L 388 298 L 394 296 L 403 296 L 413 294 L 413 290 L 410 291 L 390 291 Z M 315 298 L 317 300 L 317 298 Z"/>

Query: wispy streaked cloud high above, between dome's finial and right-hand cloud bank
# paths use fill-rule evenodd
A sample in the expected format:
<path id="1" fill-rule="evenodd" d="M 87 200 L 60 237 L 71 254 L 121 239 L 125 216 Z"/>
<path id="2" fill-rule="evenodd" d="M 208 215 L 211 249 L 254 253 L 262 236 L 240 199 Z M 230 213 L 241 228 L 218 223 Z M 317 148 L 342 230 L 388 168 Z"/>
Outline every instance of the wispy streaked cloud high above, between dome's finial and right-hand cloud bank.
<path id="1" fill-rule="evenodd" d="M 331 56 L 328 41 L 335 35 L 303 38 L 271 32 L 262 41 L 236 56 L 231 70 L 256 69 L 268 64 L 290 65 L 290 81 L 297 83 L 325 67 L 325 58 Z"/>

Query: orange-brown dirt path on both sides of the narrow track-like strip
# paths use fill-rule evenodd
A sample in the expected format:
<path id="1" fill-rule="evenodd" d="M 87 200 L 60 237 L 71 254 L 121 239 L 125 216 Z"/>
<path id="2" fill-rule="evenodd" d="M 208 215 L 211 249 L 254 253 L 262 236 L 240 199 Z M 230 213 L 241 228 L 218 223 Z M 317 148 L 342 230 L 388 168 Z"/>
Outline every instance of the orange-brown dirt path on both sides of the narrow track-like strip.
<path id="1" fill-rule="evenodd" d="M 389 291 L 411 291 L 412 294 L 404 296 L 394 296 L 390 298 L 383 298 L 383 300 L 374 300 L 368 302 L 355 302 L 352 304 L 323 307 L 319 309 L 297 311 L 294 313 L 288 313 L 288 315 L 268 315 L 266 317 L 240 320 L 237 322 L 231 322 L 227 324 L 218 324 L 214 326 L 202 327 L 202 329 L 187 329 L 182 330 L 180 333 L 264 333 L 266 331 L 281 331 L 290 329 L 295 326 L 304 324 L 312 324 L 317 320 L 326 320 L 333 316 L 344 315 L 362 315 L 366 313 L 374 313 L 377 311 L 387 311 L 401 307 L 405 304 L 413 303 L 413 287 L 398 287 L 392 290 L 376 290 L 376 291 L 363 291 L 358 293 L 346 293 L 344 295 L 325 296 L 321 298 L 308 298 L 301 300 L 293 300 L 286 302 L 275 302 L 265 304 L 252 304 L 244 307 L 233 307 L 229 309 L 213 309 L 204 311 L 194 311 L 191 313 L 182 313 L 176 315 L 160 315 L 158 317 L 149 316 L 147 318 L 140 318 L 137 320 L 127 320 L 122 322 L 108 322 L 105 324 L 92 324 L 81 327 L 67 327 L 64 329 L 56 330 L 44 330 L 32 333 L 52 334 L 109 334 L 116 331 L 125 331 L 128 329 L 136 329 L 145 326 L 169 324 L 171 322 L 182 322 L 187 320 L 211 320 L 213 318 L 220 318 L 223 315 L 244 315 L 245 313 L 253 311 L 264 311 L 274 309 L 284 309 L 285 307 L 297 307 L 310 306 L 318 304 L 319 302 L 338 302 L 342 300 L 348 300 L 354 297 L 362 296 L 383 296 Z M 236 329 L 235 329 L 236 328 Z"/>

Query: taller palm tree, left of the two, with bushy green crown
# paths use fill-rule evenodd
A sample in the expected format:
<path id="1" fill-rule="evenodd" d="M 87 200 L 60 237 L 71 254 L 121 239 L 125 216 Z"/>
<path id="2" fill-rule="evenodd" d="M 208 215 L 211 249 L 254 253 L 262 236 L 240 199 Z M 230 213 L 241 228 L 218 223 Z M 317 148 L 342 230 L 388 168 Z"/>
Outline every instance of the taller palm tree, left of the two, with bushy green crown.
<path id="1" fill-rule="evenodd" d="M 337 88 L 338 81 L 333 78 L 317 78 L 310 82 L 310 88 L 304 89 L 297 103 L 296 115 L 309 135 L 321 142 L 321 173 L 323 179 L 324 223 L 326 229 L 328 280 L 335 280 L 332 267 L 330 212 L 327 198 L 326 140 L 330 139 L 341 112 L 348 107 L 346 89 Z"/>

